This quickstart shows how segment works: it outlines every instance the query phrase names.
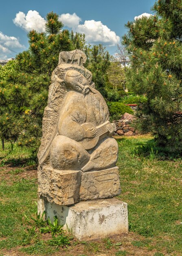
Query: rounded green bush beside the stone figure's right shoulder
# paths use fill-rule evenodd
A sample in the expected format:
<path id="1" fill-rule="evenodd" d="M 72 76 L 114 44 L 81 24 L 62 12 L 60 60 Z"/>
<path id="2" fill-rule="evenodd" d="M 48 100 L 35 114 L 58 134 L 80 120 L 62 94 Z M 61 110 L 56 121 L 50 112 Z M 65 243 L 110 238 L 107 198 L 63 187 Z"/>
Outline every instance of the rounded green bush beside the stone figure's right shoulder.
<path id="1" fill-rule="evenodd" d="M 118 120 L 121 115 L 125 113 L 134 114 L 133 110 L 129 106 L 125 106 L 121 102 L 110 102 L 108 108 L 111 115 L 111 120 Z"/>

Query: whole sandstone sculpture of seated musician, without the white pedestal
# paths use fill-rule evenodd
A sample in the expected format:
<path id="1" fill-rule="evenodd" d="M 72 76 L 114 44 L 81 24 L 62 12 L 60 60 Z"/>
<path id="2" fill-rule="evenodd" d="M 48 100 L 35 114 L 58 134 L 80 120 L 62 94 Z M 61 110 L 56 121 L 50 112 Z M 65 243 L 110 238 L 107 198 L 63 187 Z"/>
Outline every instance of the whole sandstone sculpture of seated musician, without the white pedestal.
<path id="1" fill-rule="evenodd" d="M 120 182 L 107 104 L 83 67 L 83 52 L 61 52 L 59 58 L 44 111 L 39 197 L 60 205 L 111 198 L 120 193 Z"/>

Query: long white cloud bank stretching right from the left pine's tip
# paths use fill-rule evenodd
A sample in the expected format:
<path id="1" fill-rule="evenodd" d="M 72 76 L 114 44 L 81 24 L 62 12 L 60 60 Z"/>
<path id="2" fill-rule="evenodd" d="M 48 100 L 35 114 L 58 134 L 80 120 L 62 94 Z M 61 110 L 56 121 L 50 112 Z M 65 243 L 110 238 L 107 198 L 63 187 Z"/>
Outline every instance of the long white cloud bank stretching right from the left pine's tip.
<path id="1" fill-rule="evenodd" d="M 73 31 L 85 34 L 87 43 L 104 43 L 113 46 L 120 41 L 120 37 L 101 21 L 86 20 L 84 24 L 80 24 L 81 18 L 76 13 L 61 14 L 59 20 Z"/>

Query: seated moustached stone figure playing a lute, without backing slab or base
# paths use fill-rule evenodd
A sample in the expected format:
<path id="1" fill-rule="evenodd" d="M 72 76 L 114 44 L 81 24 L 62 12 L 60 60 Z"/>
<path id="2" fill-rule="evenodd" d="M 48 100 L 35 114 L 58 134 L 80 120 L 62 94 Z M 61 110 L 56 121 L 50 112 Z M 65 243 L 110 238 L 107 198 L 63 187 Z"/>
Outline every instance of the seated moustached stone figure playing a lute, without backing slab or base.
<path id="1" fill-rule="evenodd" d="M 102 95 L 76 70 L 69 70 L 64 82 L 68 93 L 50 146 L 51 166 L 83 172 L 115 166 L 118 144 Z"/>

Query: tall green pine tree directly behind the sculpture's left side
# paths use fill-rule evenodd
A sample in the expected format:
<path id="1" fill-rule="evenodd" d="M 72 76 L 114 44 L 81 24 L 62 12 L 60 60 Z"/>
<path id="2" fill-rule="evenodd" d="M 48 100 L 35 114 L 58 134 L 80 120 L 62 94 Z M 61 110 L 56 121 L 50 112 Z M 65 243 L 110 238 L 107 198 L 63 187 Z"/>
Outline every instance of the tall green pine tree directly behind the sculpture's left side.
<path id="1" fill-rule="evenodd" d="M 42 137 L 42 117 L 59 52 L 73 50 L 78 46 L 78 40 L 84 41 L 81 35 L 74 36 L 68 30 L 61 30 L 63 24 L 58 17 L 53 12 L 47 14 L 46 33 L 35 30 L 28 33 L 29 49 L 16 56 L 14 71 L 4 85 L 7 101 L 13 103 L 9 105 L 8 120 L 13 122 L 9 132 L 13 132 L 14 141 L 18 140 L 20 146 L 28 146 L 34 152 Z"/>

